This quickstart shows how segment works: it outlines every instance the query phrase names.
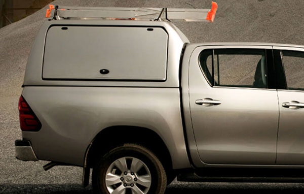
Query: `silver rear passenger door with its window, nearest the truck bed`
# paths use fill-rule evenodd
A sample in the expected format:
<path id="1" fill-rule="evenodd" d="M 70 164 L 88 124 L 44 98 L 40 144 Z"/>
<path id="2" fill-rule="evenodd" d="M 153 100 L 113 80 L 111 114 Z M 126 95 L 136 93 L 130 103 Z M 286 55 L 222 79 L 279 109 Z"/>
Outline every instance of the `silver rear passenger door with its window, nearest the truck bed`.
<path id="1" fill-rule="evenodd" d="M 275 164 L 279 110 L 272 63 L 270 46 L 194 50 L 189 106 L 201 160 L 196 166 Z"/>

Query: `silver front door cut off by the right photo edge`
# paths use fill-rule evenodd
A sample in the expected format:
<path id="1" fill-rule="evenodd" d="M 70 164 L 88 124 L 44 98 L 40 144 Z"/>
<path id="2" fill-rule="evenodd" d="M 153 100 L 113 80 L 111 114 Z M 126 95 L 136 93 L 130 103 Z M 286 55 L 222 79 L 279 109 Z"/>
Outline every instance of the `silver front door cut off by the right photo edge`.
<path id="1" fill-rule="evenodd" d="M 280 122 L 278 165 L 304 165 L 304 49 L 274 47 L 278 70 Z M 280 75 L 280 74 L 279 74 Z"/>

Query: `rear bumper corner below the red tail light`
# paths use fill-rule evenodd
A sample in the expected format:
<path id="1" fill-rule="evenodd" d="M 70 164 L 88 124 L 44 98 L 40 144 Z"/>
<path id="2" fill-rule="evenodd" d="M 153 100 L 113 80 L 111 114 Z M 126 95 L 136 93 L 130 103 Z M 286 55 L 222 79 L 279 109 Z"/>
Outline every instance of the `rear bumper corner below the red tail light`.
<path id="1" fill-rule="evenodd" d="M 38 161 L 36 154 L 28 140 L 16 140 L 16 158 L 23 161 Z"/>

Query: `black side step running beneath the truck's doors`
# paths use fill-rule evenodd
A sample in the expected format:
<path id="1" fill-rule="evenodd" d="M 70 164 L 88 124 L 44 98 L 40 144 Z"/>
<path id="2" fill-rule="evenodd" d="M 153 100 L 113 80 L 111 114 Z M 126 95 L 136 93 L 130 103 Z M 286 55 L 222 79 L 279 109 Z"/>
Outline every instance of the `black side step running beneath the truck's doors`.
<path id="1" fill-rule="evenodd" d="M 197 172 L 181 173 L 177 176 L 177 180 L 186 182 L 302 183 L 304 182 L 303 173 L 303 169 L 206 169 Z"/>

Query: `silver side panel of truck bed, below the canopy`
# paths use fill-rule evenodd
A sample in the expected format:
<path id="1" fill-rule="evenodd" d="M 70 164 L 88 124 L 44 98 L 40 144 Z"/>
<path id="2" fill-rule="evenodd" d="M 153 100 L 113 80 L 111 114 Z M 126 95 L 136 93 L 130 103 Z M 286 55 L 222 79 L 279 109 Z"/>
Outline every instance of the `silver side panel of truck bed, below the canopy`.
<path id="1" fill-rule="evenodd" d="M 126 125 L 153 130 L 169 149 L 173 167 L 189 167 L 178 88 L 30 86 L 22 95 L 42 123 L 39 132 L 22 134 L 39 159 L 83 166 L 100 131 Z"/>

